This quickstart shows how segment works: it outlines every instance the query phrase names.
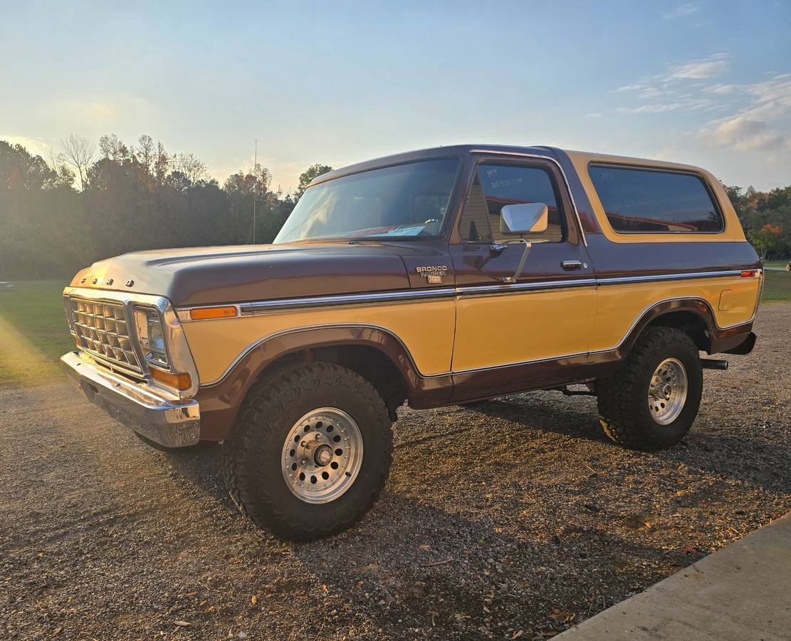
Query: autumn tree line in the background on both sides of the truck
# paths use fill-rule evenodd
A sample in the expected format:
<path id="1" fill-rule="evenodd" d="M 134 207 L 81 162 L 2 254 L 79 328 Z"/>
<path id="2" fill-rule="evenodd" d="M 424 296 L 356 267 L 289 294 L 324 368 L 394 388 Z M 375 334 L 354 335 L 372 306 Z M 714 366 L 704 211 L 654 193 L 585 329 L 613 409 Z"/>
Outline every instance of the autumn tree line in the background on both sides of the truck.
<path id="1" fill-rule="evenodd" d="M 271 242 L 310 181 L 330 170 L 312 165 L 284 193 L 261 165 L 220 185 L 199 158 L 147 135 L 128 146 L 73 135 L 47 159 L 0 140 L 0 277 L 71 275 L 138 249 Z M 788 258 L 791 185 L 725 190 L 759 254 Z"/>

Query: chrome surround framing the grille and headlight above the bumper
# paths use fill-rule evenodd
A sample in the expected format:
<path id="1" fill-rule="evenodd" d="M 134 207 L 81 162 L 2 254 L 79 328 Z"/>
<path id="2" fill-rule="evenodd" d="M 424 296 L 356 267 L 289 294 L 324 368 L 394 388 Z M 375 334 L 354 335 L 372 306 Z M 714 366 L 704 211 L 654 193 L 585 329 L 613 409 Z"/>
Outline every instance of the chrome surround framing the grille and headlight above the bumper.
<path id="1" fill-rule="evenodd" d="M 181 327 L 179 317 L 176 315 L 176 309 L 173 308 L 167 298 L 148 294 L 133 294 L 125 291 L 90 290 L 85 287 L 66 287 L 63 290 L 63 296 L 64 298 L 66 296 L 78 296 L 79 298 L 85 298 L 87 300 L 122 304 L 127 312 L 131 346 L 138 355 L 138 362 L 141 364 L 142 368 L 142 377 L 146 379 L 146 384 L 149 385 L 149 387 L 161 389 L 163 393 L 177 393 L 182 399 L 191 398 L 198 391 L 199 378 L 198 370 L 195 367 L 195 360 L 192 358 L 190 347 L 187 344 L 187 338 L 184 336 L 184 328 Z M 158 381 L 154 381 L 153 377 L 151 377 L 151 368 L 146 361 L 146 355 L 144 355 L 140 349 L 137 330 L 134 326 L 135 305 L 153 307 L 159 310 L 162 319 L 162 331 L 165 333 L 165 347 L 168 351 L 169 370 L 189 374 L 190 380 L 192 381 L 190 389 L 176 392 L 176 390 L 170 389 Z M 69 324 L 71 324 L 71 317 L 67 318 Z M 108 363 L 108 366 L 115 368 L 114 363 Z M 134 377 L 141 377 L 141 374 L 136 373 Z"/>

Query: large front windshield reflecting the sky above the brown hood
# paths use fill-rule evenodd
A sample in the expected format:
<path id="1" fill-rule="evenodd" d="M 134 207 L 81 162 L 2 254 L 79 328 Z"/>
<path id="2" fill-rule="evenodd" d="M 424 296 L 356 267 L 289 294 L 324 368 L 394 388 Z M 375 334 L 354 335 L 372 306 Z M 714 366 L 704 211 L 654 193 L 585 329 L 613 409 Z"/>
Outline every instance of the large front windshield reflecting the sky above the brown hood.
<path id="1" fill-rule="evenodd" d="M 310 187 L 274 242 L 437 236 L 459 162 L 459 158 L 410 162 Z"/>

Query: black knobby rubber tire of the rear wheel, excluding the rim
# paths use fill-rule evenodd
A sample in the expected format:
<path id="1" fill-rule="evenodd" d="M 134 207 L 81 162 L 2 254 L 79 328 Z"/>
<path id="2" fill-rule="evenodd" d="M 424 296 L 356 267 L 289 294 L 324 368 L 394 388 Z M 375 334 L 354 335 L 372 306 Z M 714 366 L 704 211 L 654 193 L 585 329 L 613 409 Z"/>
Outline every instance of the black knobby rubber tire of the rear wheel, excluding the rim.
<path id="1" fill-rule="evenodd" d="M 677 358 L 687 373 L 687 399 L 678 417 L 657 423 L 648 407 L 649 383 L 657 366 Z M 664 449 L 676 445 L 698 415 L 703 372 L 698 347 L 680 329 L 651 327 L 643 332 L 615 376 L 596 381 L 599 422 L 611 441 L 630 449 Z"/>

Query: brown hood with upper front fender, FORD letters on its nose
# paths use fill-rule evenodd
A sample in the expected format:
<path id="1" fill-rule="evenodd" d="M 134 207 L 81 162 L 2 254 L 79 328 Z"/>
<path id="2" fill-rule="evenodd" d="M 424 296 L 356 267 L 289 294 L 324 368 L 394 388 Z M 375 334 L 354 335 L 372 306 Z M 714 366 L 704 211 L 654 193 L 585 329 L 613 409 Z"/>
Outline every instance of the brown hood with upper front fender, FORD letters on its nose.
<path id="1" fill-rule="evenodd" d="M 71 286 L 155 294 L 177 307 L 408 289 L 395 243 L 237 245 L 131 252 L 80 271 Z M 129 284 L 131 283 L 131 284 Z"/>

